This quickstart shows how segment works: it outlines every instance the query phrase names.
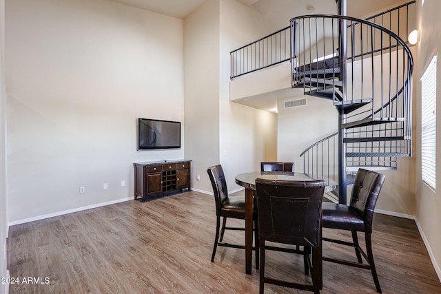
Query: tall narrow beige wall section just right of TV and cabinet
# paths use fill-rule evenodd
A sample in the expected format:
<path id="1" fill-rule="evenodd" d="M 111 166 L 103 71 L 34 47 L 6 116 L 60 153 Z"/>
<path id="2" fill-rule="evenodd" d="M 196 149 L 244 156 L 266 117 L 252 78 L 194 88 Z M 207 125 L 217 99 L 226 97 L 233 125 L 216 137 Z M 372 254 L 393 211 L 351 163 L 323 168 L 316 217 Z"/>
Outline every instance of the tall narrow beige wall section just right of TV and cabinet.
<path id="1" fill-rule="evenodd" d="M 185 158 L 193 160 L 193 189 L 210 192 L 207 167 L 219 163 L 218 1 L 206 1 L 185 18 L 184 36 Z"/>

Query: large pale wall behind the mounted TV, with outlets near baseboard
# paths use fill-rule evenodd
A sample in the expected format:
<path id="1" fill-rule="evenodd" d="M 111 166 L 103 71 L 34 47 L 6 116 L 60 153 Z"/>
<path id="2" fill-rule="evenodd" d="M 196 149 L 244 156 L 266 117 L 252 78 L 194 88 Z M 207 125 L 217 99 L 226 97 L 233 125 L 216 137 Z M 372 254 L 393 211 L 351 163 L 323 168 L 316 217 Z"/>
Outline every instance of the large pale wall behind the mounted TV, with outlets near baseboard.
<path id="1" fill-rule="evenodd" d="M 133 162 L 183 158 L 136 151 L 136 118 L 183 121 L 181 19 L 107 0 L 6 11 L 10 222 L 132 198 Z"/>

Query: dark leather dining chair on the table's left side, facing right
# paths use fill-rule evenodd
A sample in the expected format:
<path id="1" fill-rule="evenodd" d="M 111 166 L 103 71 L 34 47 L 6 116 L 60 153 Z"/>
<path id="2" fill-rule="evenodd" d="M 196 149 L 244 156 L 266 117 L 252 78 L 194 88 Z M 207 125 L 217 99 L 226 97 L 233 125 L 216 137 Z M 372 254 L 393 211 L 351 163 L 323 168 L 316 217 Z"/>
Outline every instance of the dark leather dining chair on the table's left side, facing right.
<path id="1" fill-rule="evenodd" d="M 214 165 L 207 169 L 209 179 L 212 182 L 214 200 L 216 203 L 216 237 L 214 238 L 214 246 L 212 253 L 212 262 L 216 255 L 217 246 L 233 247 L 238 249 L 245 249 L 244 245 L 224 243 L 223 235 L 225 230 L 245 231 L 245 227 L 226 227 L 227 218 L 238 218 L 245 220 L 245 196 L 229 196 L 227 189 L 227 182 L 223 172 L 222 165 Z M 223 218 L 222 227 L 220 227 L 220 217 Z M 254 249 L 256 250 L 256 269 L 259 266 L 258 254 L 258 222 L 257 209 L 255 207 L 253 213 L 254 219 Z M 219 237 L 220 233 L 220 237 Z"/>

